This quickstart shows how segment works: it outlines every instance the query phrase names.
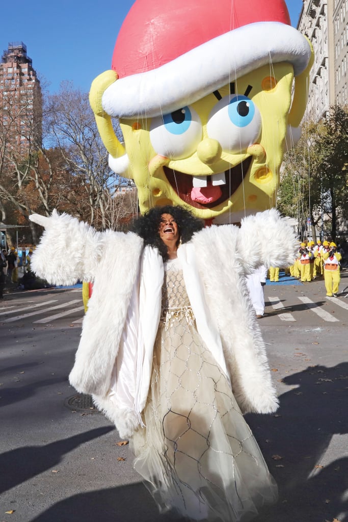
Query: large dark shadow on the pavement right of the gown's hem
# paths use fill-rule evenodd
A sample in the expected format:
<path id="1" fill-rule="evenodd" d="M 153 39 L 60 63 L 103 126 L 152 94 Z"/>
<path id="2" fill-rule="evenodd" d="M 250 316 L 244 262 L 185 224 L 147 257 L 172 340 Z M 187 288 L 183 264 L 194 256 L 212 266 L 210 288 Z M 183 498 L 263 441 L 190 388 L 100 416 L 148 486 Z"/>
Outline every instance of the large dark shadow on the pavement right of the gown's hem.
<path id="1" fill-rule="evenodd" d="M 348 363 L 308 367 L 283 382 L 294 388 L 275 415 L 246 416 L 279 488 L 277 505 L 255 522 L 332 522 L 339 514 L 344 522 L 348 457 L 321 459 L 332 436 L 348 432 Z"/>

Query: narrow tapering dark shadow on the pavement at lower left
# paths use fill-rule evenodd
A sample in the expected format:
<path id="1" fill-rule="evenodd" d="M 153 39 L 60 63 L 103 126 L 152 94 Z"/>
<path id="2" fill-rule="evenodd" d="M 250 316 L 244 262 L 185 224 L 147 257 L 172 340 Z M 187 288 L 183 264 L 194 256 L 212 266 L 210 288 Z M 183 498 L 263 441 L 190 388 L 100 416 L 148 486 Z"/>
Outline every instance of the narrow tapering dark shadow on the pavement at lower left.
<path id="1" fill-rule="evenodd" d="M 24 446 L 1 454 L 0 493 L 56 466 L 63 455 L 71 452 L 80 444 L 101 437 L 114 429 L 114 426 L 105 426 L 73 437 L 63 438 L 45 446 Z M 51 520 L 59 520 L 59 518 Z"/>

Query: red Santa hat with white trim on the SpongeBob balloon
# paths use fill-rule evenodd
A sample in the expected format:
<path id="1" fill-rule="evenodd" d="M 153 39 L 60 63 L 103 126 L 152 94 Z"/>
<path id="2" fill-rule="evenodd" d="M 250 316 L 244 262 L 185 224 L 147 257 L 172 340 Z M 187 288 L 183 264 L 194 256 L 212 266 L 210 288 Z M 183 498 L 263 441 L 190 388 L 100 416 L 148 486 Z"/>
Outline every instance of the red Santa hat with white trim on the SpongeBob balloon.
<path id="1" fill-rule="evenodd" d="M 310 55 L 284 0 L 137 0 L 102 105 L 124 118 L 169 113 L 265 64 L 288 62 L 299 75 Z"/>

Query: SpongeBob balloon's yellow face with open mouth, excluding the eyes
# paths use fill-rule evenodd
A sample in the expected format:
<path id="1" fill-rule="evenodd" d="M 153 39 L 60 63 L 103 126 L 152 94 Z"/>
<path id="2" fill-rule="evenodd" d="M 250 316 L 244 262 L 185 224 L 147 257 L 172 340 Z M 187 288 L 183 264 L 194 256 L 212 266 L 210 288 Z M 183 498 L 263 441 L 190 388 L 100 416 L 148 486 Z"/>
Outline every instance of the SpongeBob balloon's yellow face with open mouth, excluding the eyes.
<path id="1" fill-rule="evenodd" d="M 188 205 L 197 217 L 211 219 L 224 213 L 238 215 L 245 210 L 262 210 L 274 205 L 284 155 L 292 82 L 293 69 L 289 64 L 275 64 L 272 74 L 270 67 L 261 67 L 236 80 L 233 88 L 238 92 L 250 90 L 248 97 L 255 105 L 260 121 L 255 140 L 245 142 L 240 150 L 228 149 L 218 139 L 210 137 L 212 125 L 209 121 L 215 114 L 216 94 L 192 105 L 199 117 L 201 135 L 199 139 L 195 137 L 195 146 L 187 157 L 169 157 L 169 153 L 167 157 L 161 154 L 161 150 L 154 149 L 150 137 L 151 120 L 121 120 L 129 160 L 124 175 L 133 178 L 137 185 L 140 210 L 143 212 L 164 204 Z M 230 96 L 230 89 L 230 85 L 219 89 L 220 96 Z M 228 133 L 226 125 L 222 129 L 221 141 Z M 200 181 L 204 178 L 209 185 L 214 176 L 220 174 L 224 174 L 225 180 L 220 199 L 209 204 L 192 199 L 195 183 L 201 186 Z M 204 192 L 201 188 L 199 191 Z"/>

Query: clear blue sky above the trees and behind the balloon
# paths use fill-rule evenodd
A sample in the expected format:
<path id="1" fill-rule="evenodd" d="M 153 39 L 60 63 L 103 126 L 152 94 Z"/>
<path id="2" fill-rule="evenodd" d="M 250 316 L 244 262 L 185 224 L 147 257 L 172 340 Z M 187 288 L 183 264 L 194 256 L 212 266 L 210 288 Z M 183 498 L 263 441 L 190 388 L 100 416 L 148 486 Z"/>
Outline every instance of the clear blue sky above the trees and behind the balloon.
<path id="1" fill-rule="evenodd" d="M 110 69 L 118 30 L 133 2 L 31 0 L 16 7 L 3 2 L 0 51 L 9 42 L 24 42 L 34 69 L 50 84 L 51 93 L 62 80 L 71 80 L 75 88 L 88 92 L 92 80 Z M 286 4 L 296 27 L 302 0 L 286 0 Z"/>

